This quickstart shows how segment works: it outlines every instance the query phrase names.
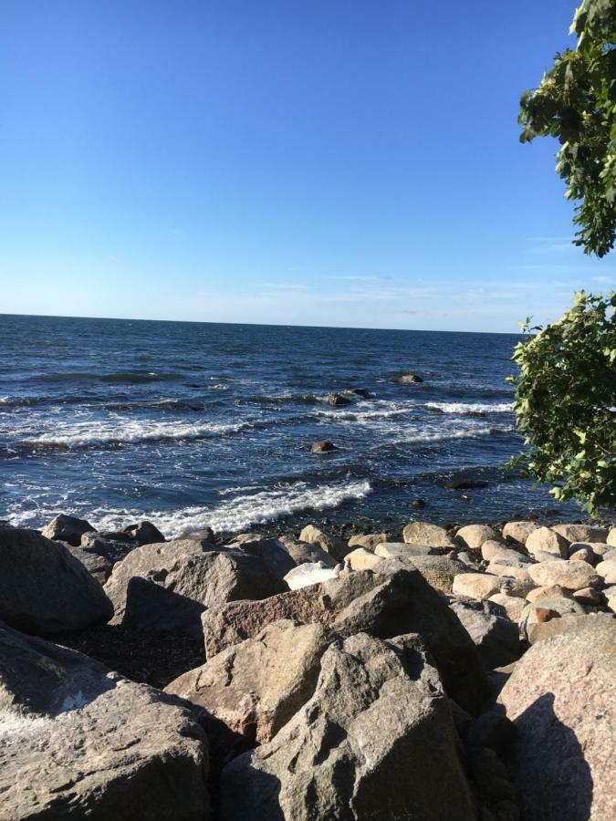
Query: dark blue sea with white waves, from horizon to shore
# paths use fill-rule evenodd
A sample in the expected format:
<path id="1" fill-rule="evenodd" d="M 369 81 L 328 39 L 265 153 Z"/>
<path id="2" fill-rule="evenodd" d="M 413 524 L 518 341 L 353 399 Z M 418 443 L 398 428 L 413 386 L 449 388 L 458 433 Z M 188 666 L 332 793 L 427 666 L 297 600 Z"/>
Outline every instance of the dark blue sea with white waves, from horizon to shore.
<path id="1" fill-rule="evenodd" d="M 110 528 L 146 516 L 177 535 L 558 508 L 503 470 L 519 448 L 504 381 L 516 342 L 0 316 L 0 518 L 37 526 L 62 511 Z M 392 381 L 407 370 L 424 382 Z M 369 398 L 325 401 L 358 388 Z M 310 454 L 322 439 L 339 450 Z M 487 486 L 446 489 L 461 476 Z"/>

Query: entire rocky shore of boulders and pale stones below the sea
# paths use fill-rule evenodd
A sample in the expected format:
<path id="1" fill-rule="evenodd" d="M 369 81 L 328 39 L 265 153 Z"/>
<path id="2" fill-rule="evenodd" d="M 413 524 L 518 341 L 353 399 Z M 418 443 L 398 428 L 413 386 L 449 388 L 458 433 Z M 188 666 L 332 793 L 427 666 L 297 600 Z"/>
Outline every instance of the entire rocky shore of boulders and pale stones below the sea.
<path id="1" fill-rule="evenodd" d="M 0 817 L 616 817 L 615 608 L 594 525 L 0 526 Z M 54 642 L 100 625 L 203 663 L 160 690 Z"/>

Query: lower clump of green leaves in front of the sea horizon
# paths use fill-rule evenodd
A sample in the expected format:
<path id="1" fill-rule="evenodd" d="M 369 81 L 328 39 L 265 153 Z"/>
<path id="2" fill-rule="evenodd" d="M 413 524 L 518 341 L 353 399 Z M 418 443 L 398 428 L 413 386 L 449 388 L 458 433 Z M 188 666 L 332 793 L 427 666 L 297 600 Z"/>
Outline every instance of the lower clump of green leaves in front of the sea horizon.
<path id="1" fill-rule="evenodd" d="M 596 514 L 616 507 L 616 293 L 576 295 L 557 322 L 523 329 L 514 410 L 525 450 L 514 460 Z"/>

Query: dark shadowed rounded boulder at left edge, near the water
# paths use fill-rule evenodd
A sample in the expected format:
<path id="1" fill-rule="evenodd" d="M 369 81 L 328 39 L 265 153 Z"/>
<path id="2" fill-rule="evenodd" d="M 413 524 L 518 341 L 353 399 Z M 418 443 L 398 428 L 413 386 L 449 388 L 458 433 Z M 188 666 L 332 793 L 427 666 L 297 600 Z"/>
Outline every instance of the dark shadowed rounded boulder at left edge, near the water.
<path id="1" fill-rule="evenodd" d="M 113 606 L 68 548 L 36 530 L 0 526 L 0 619 L 47 636 L 109 621 Z"/>

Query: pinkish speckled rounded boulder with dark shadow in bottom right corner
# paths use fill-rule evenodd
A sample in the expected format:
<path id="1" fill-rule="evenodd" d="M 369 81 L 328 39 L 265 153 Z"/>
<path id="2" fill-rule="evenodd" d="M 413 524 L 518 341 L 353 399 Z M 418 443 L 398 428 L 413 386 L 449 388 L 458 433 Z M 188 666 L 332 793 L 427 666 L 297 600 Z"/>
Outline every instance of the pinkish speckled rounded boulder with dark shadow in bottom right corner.
<path id="1" fill-rule="evenodd" d="M 498 701 L 517 730 L 508 764 L 527 821 L 616 817 L 615 680 L 613 620 L 539 641 L 517 662 Z"/>

